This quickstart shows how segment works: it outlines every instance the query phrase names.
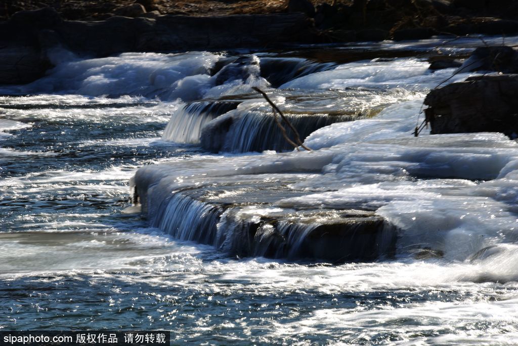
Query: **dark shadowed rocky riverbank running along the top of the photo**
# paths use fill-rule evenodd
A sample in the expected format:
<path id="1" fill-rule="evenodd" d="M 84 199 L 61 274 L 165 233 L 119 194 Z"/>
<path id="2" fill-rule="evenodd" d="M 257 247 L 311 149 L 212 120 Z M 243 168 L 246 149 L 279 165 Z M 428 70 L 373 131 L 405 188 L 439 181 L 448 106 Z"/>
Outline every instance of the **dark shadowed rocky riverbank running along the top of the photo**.
<path id="1" fill-rule="evenodd" d="M 38 79 L 62 59 L 63 52 L 102 57 L 121 52 L 505 35 L 518 32 L 517 13 L 518 5 L 511 0 L 332 4 L 278 0 L 266 5 L 254 1 L 9 2 L 0 11 L 0 19 L 5 19 L 0 21 L 0 84 Z"/>

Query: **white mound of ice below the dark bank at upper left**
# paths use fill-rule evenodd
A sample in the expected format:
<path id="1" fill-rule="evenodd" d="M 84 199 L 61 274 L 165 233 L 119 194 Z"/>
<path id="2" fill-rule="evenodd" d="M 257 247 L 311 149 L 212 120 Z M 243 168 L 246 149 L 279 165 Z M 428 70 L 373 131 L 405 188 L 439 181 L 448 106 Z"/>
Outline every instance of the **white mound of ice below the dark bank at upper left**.
<path id="1" fill-rule="evenodd" d="M 20 86 L 18 93 L 193 99 L 210 88 L 208 70 L 220 57 L 208 52 L 187 52 L 122 53 L 75 59 L 57 65 L 44 78 Z"/>

